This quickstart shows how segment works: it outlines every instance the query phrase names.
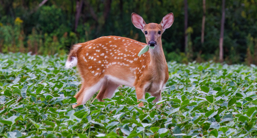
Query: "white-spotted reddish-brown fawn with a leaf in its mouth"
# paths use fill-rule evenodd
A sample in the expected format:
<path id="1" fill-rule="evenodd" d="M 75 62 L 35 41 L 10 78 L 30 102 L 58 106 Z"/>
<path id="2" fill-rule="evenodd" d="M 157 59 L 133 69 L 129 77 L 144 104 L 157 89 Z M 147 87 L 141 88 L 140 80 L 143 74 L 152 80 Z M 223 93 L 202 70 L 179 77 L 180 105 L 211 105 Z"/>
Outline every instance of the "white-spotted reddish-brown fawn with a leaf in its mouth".
<path id="1" fill-rule="evenodd" d="M 65 63 L 66 68 L 77 66 L 81 76 L 81 88 L 74 96 L 77 104 L 84 105 L 96 92 L 96 99 L 111 98 L 115 90 L 125 85 L 134 87 L 137 100 L 144 99 L 146 92 L 162 98 L 163 88 L 169 79 L 169 71 L 162 47 L 162 34 L 174 22 L 173 13 L 167 14 L 160 24 L 146 24 L 143 18 L 132 13 L 133 25 L 141 29 L 146 43 L 119 36 L 102 36 L 73 45 Z M 154 49 L 138 56 L 139 51 L 149 45 Z M 138 101 L 139 102 L 139 101 Z M 139 107 L 143 103 L 138 104 Z"/>

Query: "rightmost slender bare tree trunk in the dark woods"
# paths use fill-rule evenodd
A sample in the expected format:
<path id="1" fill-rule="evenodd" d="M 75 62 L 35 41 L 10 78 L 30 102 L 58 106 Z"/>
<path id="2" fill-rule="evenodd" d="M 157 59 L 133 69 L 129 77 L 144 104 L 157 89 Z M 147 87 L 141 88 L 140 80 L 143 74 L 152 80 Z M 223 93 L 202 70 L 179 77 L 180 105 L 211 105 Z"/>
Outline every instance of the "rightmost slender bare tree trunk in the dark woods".
<path id="1" fill-rule="evenodd" d="M 222 18 L 221 18 L 221 36 L 220 36 L 220 62 L 224 61 L 224 58 L 223 58 L 224 24 L 225 24 L 225 0 L 222 0 Z"/>

